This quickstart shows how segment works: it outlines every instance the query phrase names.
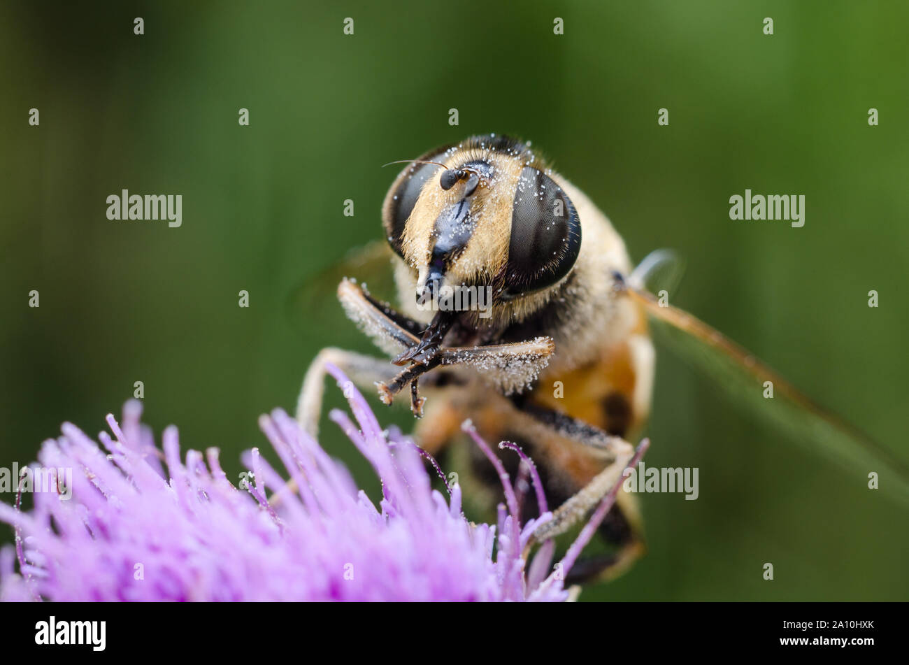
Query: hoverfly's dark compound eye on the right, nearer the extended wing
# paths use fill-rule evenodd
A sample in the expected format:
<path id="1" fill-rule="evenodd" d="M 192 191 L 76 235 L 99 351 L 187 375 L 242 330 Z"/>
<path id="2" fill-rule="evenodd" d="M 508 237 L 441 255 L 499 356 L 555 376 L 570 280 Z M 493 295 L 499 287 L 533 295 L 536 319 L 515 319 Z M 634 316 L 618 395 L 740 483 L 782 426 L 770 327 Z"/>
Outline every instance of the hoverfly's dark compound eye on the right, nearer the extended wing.
<path id="1" fill-rule="evenodd" d="M 574 203 L 554 180 L 524 166 L 514 193 L 505 293 L 552 286 L 572 269 L 581 251 L 581 222 Z"/>

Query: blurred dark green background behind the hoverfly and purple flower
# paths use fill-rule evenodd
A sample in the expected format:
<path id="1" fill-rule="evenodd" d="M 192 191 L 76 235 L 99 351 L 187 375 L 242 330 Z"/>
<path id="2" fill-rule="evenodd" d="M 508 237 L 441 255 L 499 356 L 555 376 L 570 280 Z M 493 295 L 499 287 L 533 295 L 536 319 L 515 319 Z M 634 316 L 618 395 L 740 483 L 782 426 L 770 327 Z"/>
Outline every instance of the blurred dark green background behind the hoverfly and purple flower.
<path id="1" fill-rule="evenodd" d="M 240 471 L 317 349 L 371 348 L 327 314 L 296 325 L 288 302 L 381 237 L 380 165 L 487 132 L 532 140 L 635 261 L 677 249 L 676 304 L 909 458 L 906 25 L 903 2 L 5 2 L 0 465 L 65 420 L 98 432 L 143 381 L 155 432 L 173 422 Z M 124 188 L 183 194 L 183 226 L 108 221 Z M 804 228 L 730 221 L 745 188 L 804 194 Z M 584 599 L 909 598 L 907 513 L 864 472 L 665 353 L 653 412 L 647 464 L 699 467 L 700 498 L 644 495 L 647 556 Z M 335 428 L 322 438 L 369 482 Z"/>

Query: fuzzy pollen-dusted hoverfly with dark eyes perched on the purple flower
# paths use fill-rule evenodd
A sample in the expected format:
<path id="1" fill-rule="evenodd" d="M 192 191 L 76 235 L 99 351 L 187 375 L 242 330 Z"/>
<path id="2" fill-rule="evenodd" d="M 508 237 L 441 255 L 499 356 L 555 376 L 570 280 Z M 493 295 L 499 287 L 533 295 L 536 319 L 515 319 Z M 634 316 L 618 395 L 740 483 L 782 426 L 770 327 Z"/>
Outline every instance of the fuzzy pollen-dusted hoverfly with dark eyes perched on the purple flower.
<path id="1" fill-rule="evenodd" d="M 385 403 L 409 399 L 420 418 L 415 440 L 434 455 L 470 419 L 487 441 L 517 442 L 540 469 L 546 496 L 561 506 L 536 534 L 549 538 L 620 480 L 633 451 L 625 440 L 648 416 L 650 330 L 659 327 L 795 440 L 852 468 L 893 471 L 889 483 L 909 496 L 899 462 L 734 342 L 659 302 L 652 282 L 677 273 L 672 254 L 652 253 L 633 269 L 604 213 L 529 144 L 474 136 L 406 164 L 382 206 L 387 242 L 345 267 L 362 281 L 390 263 L 399 308 L 354 279 L 335 282 L 347 316 L 391 362 L 338 348 L 319 352 L 297 404 L 309 432 L 318 426 L 328 362 L 377 388 Z M 768 381 L 774 400 L 764 399 Z M 508 460 L 516 473 L 515 459 Z M 534 511 L 533 492 L 526 501 Z M 619 492 L 600 533 L 614 552 L 579 561 L 573 575 L 608 578 L 641 554 L 632 494 Z"/>

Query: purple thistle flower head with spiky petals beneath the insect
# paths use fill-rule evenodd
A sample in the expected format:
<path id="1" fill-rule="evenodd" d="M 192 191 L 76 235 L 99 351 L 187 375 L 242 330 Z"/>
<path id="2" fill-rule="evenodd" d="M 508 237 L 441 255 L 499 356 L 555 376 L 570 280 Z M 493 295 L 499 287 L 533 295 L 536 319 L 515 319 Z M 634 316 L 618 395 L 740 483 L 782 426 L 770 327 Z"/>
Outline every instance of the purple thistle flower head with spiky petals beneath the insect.
<path id="1" fill-rule="evenodd" d="M 330 372 L 339 385 L 351 385 L 336 368 Z M 459 486 L 448 489 L 447 500 L 431 488 L 428 453 L 400 432 L 383 432 L 355 389 L 348 399 L 357 425 L 344 412 L 330 416 L 382 480 L 378 506 L 280 409 L 262 416 L 260 426 L 290 482 L 253 449 L 243 456 L 250 475 L 240 488 L 227 480 L 215 449 L 205 457 L 191 450 L 181 460 L 173 426 L 158 450 L 140 425 L 139 402 L 126 403 L 122 429 L 107 416 L 114 438 L 102 432 L 100 446 L 65 423 L 38 461 L 73 470 L 72 499 L 35 493 L 27 513 L 0 503 L 0 521 L 16 531 L 16 549 L 0 552 L 0 600 L 569 597 L 559 575 L 547 576 L 551 541 L 530 565 L 524 560 L 534 528 L 551 513 L 519 523 L 511 481 L 469 424 L 504 483 L 508 508 L 500 506 L 497 527 L 467 521 Z M 532 462 L 518 452 L 544 506 Z M 587 525 L 586 540 L 596 524 Z M 575 557 L 582 540 L 574 543 Z"/>

